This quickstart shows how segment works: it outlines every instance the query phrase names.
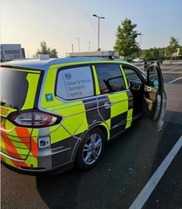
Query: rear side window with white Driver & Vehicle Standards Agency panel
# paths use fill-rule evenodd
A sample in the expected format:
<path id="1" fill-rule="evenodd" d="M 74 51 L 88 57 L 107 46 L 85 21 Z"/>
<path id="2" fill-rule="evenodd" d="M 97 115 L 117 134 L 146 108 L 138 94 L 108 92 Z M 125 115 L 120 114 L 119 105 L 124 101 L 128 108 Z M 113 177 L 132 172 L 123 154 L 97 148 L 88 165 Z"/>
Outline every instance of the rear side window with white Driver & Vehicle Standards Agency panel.
<path id="1" fill-rule="evenodd" d="M 66 100 L 94 95 L 90 66 L 61 69 L 56 84 L 56 95 Z"/>

